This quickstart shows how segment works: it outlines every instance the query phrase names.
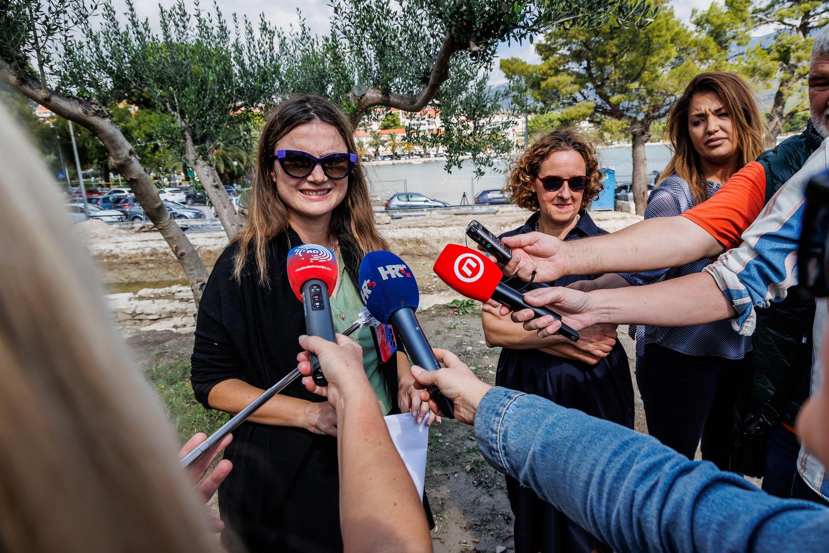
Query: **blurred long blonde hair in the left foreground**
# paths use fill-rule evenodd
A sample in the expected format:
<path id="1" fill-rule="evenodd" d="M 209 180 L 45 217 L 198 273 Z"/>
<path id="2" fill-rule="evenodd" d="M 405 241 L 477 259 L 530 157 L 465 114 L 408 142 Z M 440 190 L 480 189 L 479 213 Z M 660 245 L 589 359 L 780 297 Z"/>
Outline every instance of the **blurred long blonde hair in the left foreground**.
<path id="1" fill-rule="evenodd" d="M 0 551 L 218 551 L 54 179 L 0 104 Z"/>

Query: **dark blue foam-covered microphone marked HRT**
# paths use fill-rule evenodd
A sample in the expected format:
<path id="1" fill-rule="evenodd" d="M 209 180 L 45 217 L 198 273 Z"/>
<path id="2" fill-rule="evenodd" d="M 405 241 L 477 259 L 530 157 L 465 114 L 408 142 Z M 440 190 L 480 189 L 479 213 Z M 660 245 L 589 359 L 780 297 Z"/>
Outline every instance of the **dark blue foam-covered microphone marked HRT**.
<path id="1" fill-rule="evenodd" d="M 440 368 L 438 360 L 414 316 L 420 293 L 409 265 L 391 252 L 371 251 L 360 262 L 359 279 L 360 298 L 371 316 L 395 328 L 414 365 L 437 371 Z M 453 419 L 452 400 L 435 386 L 429 388 L 429 394 L 441 413 Z"/>

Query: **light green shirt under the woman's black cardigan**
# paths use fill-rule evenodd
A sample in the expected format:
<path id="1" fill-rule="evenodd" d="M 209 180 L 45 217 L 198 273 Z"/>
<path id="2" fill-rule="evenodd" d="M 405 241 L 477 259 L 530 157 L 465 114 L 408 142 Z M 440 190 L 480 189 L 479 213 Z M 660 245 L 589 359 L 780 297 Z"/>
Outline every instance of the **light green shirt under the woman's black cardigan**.
<path id="1" fill-rule="evenodd" d="M 342 264 L 342 257 L 340 257 L 340 284 L 337 290 L 331 294 L 331 314 L 334 319 L 334 330 L 340 334 L 346 328 L 351 326 L 351 323 L 356 321 L 360 315 L 360 308 L 363 307 L 360 295 L 345 267 Z M 374 339 L 372 334 L 374 331 L 371 327 L 361 327 L 358 331 L 351 334 L 351 339 L 360 344 L 363 350 L 363 368 L 366 370 L 366 376 L 374 389 L 377 400 L 380 401 L 382 412 L 388 413 L 391 410 L 391 397 L 389 389 L 385 384 L 385 376 L 380 371 L 379 358 L 377 357 L 377 350 L 374 347 Z"/>

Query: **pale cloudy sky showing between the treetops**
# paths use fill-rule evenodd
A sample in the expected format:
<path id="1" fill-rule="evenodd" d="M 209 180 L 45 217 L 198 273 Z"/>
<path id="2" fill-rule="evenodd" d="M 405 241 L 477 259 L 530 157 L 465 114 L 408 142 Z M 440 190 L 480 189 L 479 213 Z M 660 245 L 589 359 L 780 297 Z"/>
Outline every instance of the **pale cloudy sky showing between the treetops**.
<path id="1" fill-rule="evenodd" d="M 113 0 L 115 7 L 124 7 L 126 2 L 124 0 Z M 156 18 L 158 12 L 158 0 L 133 0 L 135 9 L 138 15 L 149 17 L 152 21 Z M 160 2 L 162 4 L 171 4 L 172 2 Z M 187 3 L 191 5 L 190 0 Z M 270 22 L 276 23 L 279 27 L 288 27 L 292 23 L 297 22 L 297 7 L 302 8 L 303 17 L 308 22 L 308 27 L 315 32 L 326 32 L 328 29 L 328 17 L 332 15 L 332 8 L 327 5 L 328 0 L 217 0 L 221 11 L 225 16 L 230 17 L 230 13 L 235 12 L 237 15 L 245 14 L 251 19 L 258 19 L 259 13 L 264 12 Z M 688 22 L 691 17 L 691 10 L 696 8 L 705 9 L 709 7 L 711 0 L 671 0 L 671 5 L 676 12 L 677 17 Z M 212 8 L 211 0 L 202 0 L 201 7 L 205 9 Z M 540 58 L 536 55 L 533 47 L 525 42 L 523 46 L 513 44 L 507 46 L 504 43 L 498 48 L 498 56 L 500 57 L 520 57 L 523 60 L 538 62 Z M 496 69 L 492 73 L 490 83 L 492 86 L 501 85 L 506 82 L 504 74 L 500 69 Z"/>

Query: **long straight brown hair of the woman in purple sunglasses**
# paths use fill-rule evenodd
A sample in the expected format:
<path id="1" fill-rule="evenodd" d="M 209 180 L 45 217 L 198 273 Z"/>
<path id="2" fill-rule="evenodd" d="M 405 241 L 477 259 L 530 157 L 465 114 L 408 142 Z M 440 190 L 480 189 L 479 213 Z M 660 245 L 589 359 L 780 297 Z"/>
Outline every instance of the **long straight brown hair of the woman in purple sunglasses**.
<path id="1" fill-rule="evenodd" d="M 274 170 L 274 148 L 286 134 L 301 124 L 320 122 L 329 124 L 340 133 L 348 151 L 356 153 L 354 129 L 342 109 L 318 95 L 297 95 L 279 104 L 262 128 L 256 153 L 253 186 L 250 188 L 250 205 L 247 225 L 236 235 L 239 250 L 234 258 L 234 276 L 241 279 L 245 264 L 250 257 L 251 246 L 259 272 L 259 284 L 270 283 L 268 275 L 267 245 L 270 240 L 288 230 L 288 207 L 279 197 L 271 179 Z M 334 208 L 329 235 L 336 236 L 346 270 L 356 286 L 357 264 L 370 251 L 387 250 L 385 240 L 377 232 L 371 198 L 368 195 L 366 177 L 359 157 L 348 177 L 346 197 Z M 356 260 L 356 262 L 354 261 Z"/>

